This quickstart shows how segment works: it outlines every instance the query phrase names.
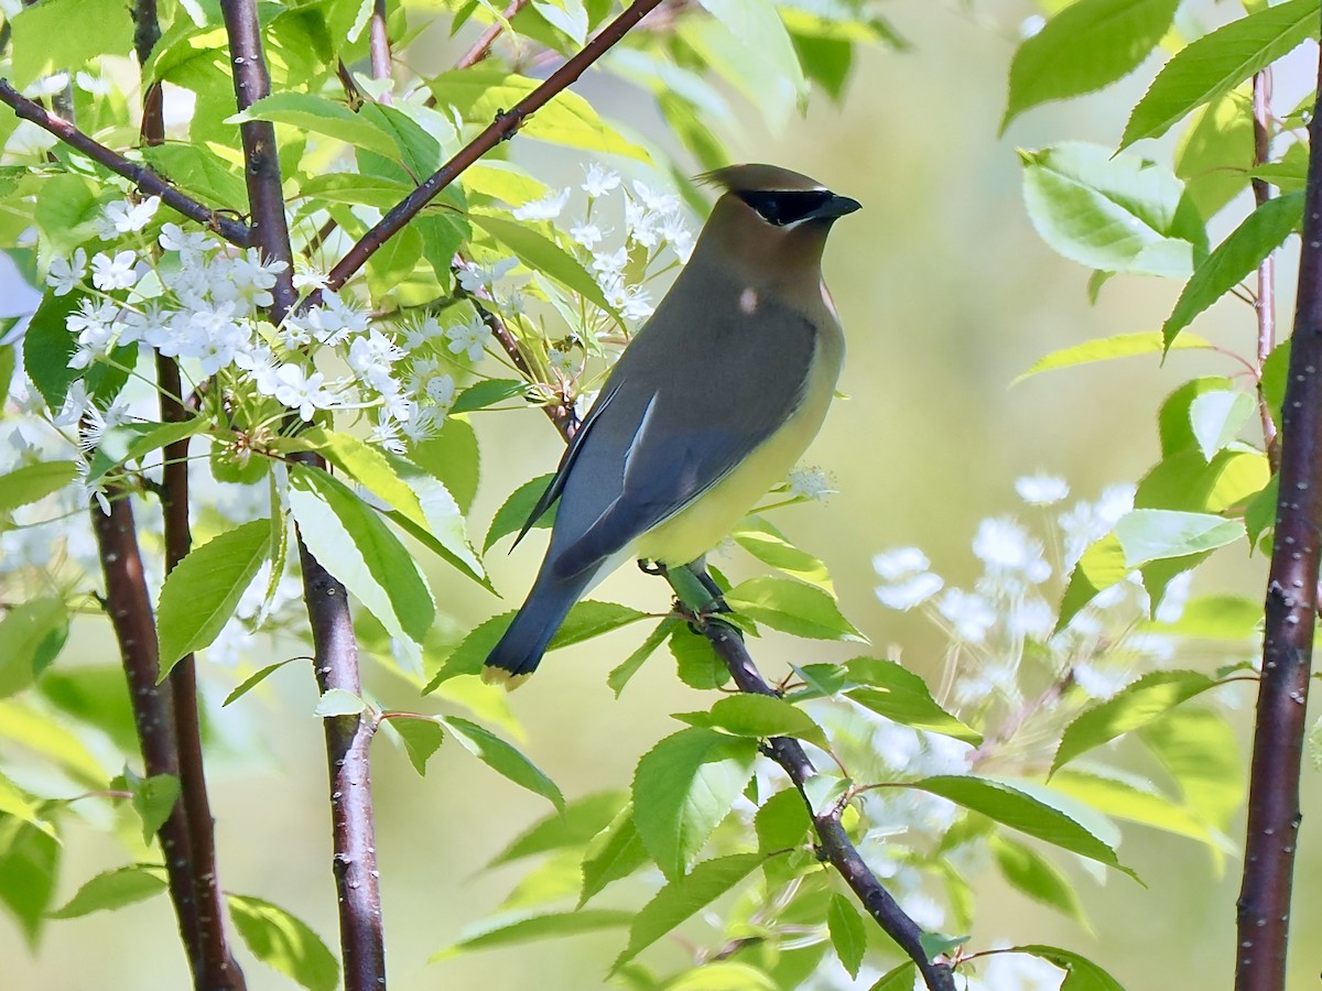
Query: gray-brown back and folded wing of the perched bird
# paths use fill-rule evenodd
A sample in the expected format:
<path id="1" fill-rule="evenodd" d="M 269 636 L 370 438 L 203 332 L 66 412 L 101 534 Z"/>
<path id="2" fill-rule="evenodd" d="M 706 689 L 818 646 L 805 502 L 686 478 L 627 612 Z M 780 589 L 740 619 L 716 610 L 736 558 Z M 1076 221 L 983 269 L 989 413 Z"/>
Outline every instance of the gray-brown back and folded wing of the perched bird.
<path id="1" fill-rule="evenodd" d="M 566 452 L 547 490 L 561 497 L 555 575 L 599 564 L 678 513 L 801 402 L 816 348 L 808 318 L 771 301 L 750 318 L 734 300 L 698 299 L 702 313 L 689 320 L 662 301 Z"/>

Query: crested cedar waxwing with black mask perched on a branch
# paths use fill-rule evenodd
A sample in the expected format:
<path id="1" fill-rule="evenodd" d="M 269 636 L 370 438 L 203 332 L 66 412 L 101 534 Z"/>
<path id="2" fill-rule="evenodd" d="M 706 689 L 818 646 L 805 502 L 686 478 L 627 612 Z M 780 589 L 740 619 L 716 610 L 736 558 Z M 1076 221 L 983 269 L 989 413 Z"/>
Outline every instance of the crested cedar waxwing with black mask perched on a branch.
<path id="1" fill-rule="evenodd" d="M 702 558 L 802 456 L 845 355 L 821 256 L 859 209 L 734 165 L 693 256 L 620 355 L 520 539 L 559 499 L 542 568 L 483 679 L 516 687 L 570 608 L 629 558 Z M 517 540 L 516 540 L 517 543 Z"/>

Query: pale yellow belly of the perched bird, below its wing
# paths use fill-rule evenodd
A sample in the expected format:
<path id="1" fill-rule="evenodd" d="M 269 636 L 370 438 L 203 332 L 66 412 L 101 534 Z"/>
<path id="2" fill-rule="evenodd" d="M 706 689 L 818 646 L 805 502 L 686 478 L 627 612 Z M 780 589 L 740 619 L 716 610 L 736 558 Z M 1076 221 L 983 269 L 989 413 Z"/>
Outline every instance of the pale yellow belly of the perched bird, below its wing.
<path id="1" fill-rule="evenodd" d="M 834 328 L 833 328 L 834 329 Z M 635 555 L 680 567 L 715 547 L 767 490 L 783 481 L 817 431 L 836 392 L 841 353 L 818 345 L 804 402 L 785 424 L 690 505 L 639 538 Z"/>

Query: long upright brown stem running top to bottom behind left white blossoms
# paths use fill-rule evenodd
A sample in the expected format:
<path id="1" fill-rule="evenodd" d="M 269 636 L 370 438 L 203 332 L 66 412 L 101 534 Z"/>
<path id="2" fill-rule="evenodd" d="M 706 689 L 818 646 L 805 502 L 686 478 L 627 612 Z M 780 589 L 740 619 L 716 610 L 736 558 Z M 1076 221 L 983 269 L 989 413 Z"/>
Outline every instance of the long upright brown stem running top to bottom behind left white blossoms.
<path id="1" fill-rule="evenodd" d="M 262 53 L 256 3 L 222 0 L 222 11 L 230 40 L 234 90 L 242 110 L 266 96 L 271 89 Z M 288 266 L 276 283 L 275 304 L 271 307 L 271 318 L 279 322 L 296 296 L 292 281 L 293 252 L 290 247 L 284 197 L 280 193 L 275 131 L 267 122 L 246 122 L 242 124 L 242 137 L 256 243 L 267 258 Z M 296 460 L 319 469 L 325 468 L 325 462 L 312 453 L 300 455 Z M 358 645 L 348 592 L 308 552 L 301 534 L 299 562 L 312 628 L 317 684 L 323 692 L 342 688 L 361 695 Z M 386 946 L 381 928 L 381 888 L 368 764 L 368 743 L 374 725 L 358 716 L 329 716 L 324 723 L 344 987 L 345 991 L 381 991 L 386 987 Z"/>

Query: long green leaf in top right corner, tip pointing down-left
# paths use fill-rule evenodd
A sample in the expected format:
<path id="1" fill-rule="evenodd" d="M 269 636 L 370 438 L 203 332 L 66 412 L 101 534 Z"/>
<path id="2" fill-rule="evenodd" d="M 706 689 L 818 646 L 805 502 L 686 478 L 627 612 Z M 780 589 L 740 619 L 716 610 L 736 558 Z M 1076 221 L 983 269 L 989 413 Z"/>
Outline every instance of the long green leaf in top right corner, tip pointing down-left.
<path id="1" fill-rule="evenodd" d="M 1289 0 L 1204 34 L 1161 70 L 1129 115 L 1120 147 L 1159 137 L 1182 116 L 1229 92 L 1317 32 L 1318 0 Z"/>

